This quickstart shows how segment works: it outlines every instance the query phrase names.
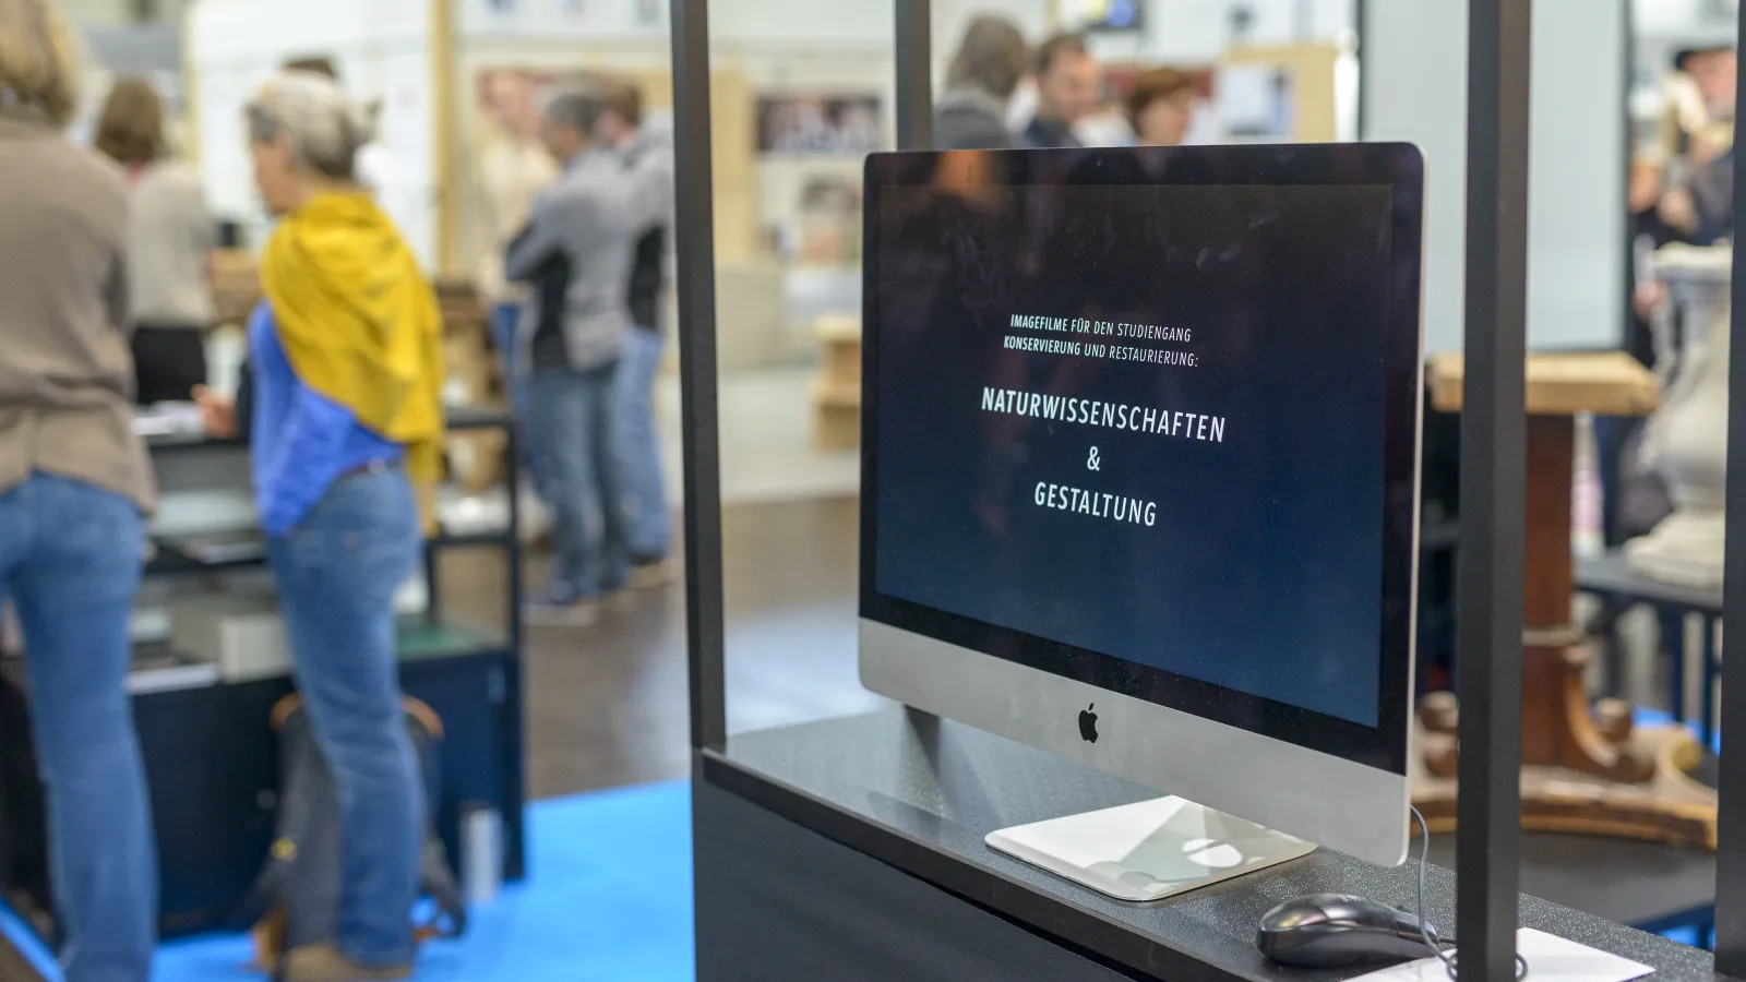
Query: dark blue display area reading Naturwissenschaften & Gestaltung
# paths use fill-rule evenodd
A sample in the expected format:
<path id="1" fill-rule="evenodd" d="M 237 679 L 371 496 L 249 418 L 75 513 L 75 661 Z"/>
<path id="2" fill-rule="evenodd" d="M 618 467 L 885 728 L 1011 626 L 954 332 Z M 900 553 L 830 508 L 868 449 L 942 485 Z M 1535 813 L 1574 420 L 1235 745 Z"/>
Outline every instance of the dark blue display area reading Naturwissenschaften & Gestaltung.
<path id="1" fill-rule="evenodd" d="M 880 189 L 875 591 L 1376 727 L 1390 194 Z"/>

